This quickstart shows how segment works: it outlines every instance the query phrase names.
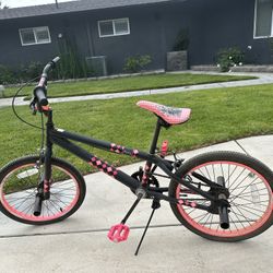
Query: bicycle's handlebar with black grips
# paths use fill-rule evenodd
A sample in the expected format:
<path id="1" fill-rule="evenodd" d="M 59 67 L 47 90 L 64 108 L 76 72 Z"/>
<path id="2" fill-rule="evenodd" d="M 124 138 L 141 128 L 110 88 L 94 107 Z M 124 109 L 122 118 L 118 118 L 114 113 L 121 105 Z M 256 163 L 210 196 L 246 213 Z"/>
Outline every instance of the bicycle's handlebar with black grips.
<path id="1" fill-rule="evenodd" d="M 38 85 L 34 88 L 33 95 L 34 95 L 34 102 L 32 102 L 31 106 L 33 104 L 37 103 L 38 109 L 41 106 L 47 106 L 48 100 L 47 100 L 47 73 L 51 70 L 55 69 L 56 63 L 60 60 L 60 57 L 54 58 L 51 61 L 49 61 L 46 67 L 43 70 L 40 80 Z"/>

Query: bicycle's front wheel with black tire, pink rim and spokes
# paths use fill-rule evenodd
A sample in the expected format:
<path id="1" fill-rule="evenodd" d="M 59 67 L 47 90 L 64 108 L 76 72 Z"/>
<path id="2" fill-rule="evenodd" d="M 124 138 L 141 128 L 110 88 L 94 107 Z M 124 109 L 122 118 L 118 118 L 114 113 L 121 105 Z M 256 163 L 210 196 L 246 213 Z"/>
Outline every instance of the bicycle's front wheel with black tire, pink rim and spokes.
<path id="1" fill-rule="evenodd" d="M 52 158 L 49 200 L 43 201 L 39 216 L 33 207 L 43 173 L 38 156 L 26 156 L 0 170 L 0 211 L 8 217 L 31 225 L 46 225 L 71 216 L 83 203 L 86 187 L 82 175 L 69 163 Z"/>

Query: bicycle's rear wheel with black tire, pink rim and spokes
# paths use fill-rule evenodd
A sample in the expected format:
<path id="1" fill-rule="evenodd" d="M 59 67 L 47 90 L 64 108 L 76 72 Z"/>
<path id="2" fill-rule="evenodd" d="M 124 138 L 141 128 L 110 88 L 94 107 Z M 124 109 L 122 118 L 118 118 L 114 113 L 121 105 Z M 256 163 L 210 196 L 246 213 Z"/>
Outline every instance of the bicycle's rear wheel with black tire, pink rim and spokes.
<path id="1" fill-rule="evenodd" d="M 177 170 L 177 175 L 191 182 L 201 182 L 191 175 L 192 171 L 214 181 L 215 177 L 223 176 L 230 192 L 228 201 L 232 206 L 228 213 L 230 226 L 228 229 L 222 229 L 216 213 L 194 209 L 194 205 L 190 207 L 190 205 L 170 204 L 178 221 L 191 232 L 211 240 L 239 241 L 257 236 L 271 227 L 273 173 L 264 164 L 245 154 L 211 152 L 187 161 Z M 201 189 L 209 191 L 210 187 L 201 186 Z M 174 180 L 169 185 L 169 197 L 188 200 L 188 204 L 193 199 L 199 204 L 211 204 L 211 201 L 187 191 Z M 185 204 L 185 201 L 180 203 Z"/>

